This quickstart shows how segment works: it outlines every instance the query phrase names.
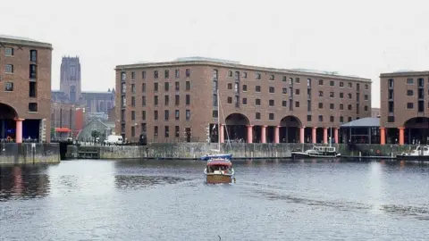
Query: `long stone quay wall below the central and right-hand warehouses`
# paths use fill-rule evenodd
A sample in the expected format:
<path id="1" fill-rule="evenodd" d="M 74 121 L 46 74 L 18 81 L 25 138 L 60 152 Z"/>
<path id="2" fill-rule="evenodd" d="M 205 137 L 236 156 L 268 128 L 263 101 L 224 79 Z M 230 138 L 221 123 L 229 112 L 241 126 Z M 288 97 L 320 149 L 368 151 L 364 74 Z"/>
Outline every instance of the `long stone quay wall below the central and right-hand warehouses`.
<path id="1" fill-rule="evenodd" d="M 223 153 L 231 153 L 238 159 L 258 158 L 290 158 L 294 150 L 307 150 L 313 144 L 223 144 Z M 394 156 L 403 151 L 408 151 L 416 145 L 332 145 L 337 147 L 342 156 L 366 157 L 366 156 Z M 96 147 L 96 146 L 94 146 Z M 67 158 L 77 158 L 79 146 L 68 146 Z M 176 144 L 150 144 L 147 146 L 111 145 L 97 146 L 100 159 L 139 159 L 139 158 L 164 158 L 164 159 L 198 159 L 200 156 L 217 149 L 217 144 L 206 143 L 176 143 Z"/>

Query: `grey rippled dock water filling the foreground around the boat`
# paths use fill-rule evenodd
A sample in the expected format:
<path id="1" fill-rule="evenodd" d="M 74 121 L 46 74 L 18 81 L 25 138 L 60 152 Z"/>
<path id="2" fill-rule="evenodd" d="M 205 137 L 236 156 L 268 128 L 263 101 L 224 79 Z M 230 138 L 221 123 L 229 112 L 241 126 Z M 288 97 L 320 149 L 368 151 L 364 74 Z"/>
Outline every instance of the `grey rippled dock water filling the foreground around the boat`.
<path id="1" fill-rule="evenodd" d="M 427 240 L 429 168 L 383 162 L 67 161 L 0 168 L 2 240 Z"/>

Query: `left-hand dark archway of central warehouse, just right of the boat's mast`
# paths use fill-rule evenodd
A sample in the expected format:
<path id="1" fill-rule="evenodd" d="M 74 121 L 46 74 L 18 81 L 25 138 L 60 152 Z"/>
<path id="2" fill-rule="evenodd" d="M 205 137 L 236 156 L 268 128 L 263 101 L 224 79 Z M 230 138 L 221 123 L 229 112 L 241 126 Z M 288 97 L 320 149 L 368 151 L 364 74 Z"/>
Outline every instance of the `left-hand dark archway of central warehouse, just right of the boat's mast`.
<path id="1" fill-rule="evenodd" d="M 225 142 L 229 137 L 231 142 L 246 143 L 246 140 L 248 138 L 247 126 L 250 125 L 248 117 L 240 113 L 231 113 L 226 117 L 225 125 Z M 228 133 L 226 131 L 228 131 Z"/>

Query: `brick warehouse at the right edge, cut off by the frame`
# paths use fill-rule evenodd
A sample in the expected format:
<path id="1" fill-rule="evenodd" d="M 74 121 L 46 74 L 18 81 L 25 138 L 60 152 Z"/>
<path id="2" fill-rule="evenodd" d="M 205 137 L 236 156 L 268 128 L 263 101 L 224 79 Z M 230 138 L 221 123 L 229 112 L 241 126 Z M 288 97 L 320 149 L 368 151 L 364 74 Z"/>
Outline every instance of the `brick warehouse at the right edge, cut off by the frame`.
<path id="1" fill-rule="evenodd" d="M 381 144 L 429 144 L 429 71 L 382 73 Z"/>

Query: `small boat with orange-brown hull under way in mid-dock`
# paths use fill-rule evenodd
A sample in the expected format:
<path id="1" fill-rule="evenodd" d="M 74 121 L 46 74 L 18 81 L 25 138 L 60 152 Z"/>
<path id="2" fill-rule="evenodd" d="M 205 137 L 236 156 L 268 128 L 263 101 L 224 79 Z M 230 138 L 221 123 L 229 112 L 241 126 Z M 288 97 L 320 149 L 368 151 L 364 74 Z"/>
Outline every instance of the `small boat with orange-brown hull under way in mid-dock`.
<path id="1" fill-rule="evenodd" d="M 232 183 L 232 181 L 235 181 L 234 172 L 230 160 L 224 158 L 211 159 L 207 162 L 204 170 L 206 183 Z"/>

